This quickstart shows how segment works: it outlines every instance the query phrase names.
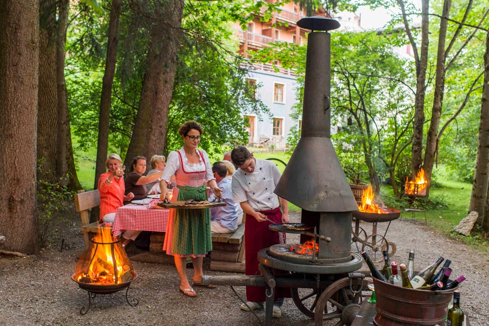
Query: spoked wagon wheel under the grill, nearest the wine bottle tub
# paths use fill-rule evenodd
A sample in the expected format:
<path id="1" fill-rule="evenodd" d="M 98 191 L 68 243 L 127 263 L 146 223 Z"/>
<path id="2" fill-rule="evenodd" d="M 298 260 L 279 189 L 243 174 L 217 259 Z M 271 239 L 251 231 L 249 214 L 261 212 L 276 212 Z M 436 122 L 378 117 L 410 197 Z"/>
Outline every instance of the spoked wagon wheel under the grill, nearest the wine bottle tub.
<path id="1" fill-rule="evenodd" d="M 368 280 L 351 280 L 354 290 L 362 285 L 367 290 Z M 316 326 L 322 326 L 324 320 L 339 319 L 335 326 L 349 326 L 360 310 L 363 301 L 362 291 L 354 293 L 350 289 L 350 279 L 343 278 L 325 288 L 317 300 L 314 312 Z"/>

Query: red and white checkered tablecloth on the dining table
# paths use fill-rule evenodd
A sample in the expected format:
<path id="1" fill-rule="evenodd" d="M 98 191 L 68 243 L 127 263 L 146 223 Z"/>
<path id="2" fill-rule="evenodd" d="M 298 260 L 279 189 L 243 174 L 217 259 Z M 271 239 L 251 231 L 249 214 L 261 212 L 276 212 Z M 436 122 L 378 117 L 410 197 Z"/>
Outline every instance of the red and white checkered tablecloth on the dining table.
<path id="1" fill-rule="evenodd" d="M 119 236 L 125 230 L 166 232 L 169 210 L 153 208 L 158 202 L 153 199 L 148 207 L 129 204 L 117 208 L 112 235 Z"/>

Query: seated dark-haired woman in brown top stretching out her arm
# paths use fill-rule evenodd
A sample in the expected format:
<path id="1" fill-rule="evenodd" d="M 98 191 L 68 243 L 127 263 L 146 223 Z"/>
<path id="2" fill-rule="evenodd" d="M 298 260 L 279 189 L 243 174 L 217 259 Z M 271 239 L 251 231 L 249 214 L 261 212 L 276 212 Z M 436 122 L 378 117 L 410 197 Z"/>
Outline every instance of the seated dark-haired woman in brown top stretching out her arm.
<path id="1" fill-rule="evenodd" d="M 125 179 L 127 195 L 129 192 L 134 194 L 134 199 L 143 199 L 148 195 L 148 189 L 145 184 L 158 180 L 163 171 L 158 171 L 151 175 L 144 176 L 146 172 L 146 157 L 136 156 L 132 160 L 132 172 Z"/>

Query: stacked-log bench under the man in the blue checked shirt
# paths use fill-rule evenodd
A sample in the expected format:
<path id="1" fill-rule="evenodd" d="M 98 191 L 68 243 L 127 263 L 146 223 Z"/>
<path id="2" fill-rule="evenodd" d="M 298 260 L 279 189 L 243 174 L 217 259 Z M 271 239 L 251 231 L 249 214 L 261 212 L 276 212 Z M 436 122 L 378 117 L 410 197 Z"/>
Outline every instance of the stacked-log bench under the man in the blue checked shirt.
<path id="1" fill-rule="evenodd" d="M 244 222 L 232 233 L 212 233 L 210 269 L 244 273 Z"/>

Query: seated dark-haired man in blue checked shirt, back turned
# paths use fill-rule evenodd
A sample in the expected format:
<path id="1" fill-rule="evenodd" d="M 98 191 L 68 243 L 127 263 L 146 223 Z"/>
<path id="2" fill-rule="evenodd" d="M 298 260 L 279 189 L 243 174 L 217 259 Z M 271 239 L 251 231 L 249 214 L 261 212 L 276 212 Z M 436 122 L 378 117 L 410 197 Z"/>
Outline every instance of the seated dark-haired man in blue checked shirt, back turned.
<path id="1" fill-rule="evenodd" d="M 233 200 L 231 180 L 226 178 L 227 169 L 223 162 L 214 162 L 212 172 L 218 187 L 222 189 L 221 202 L 226 206 L 213 207 L 210 209 L 210 231 L 212 233 L 229 233 L 238 227 L 238 213 L 236 204 Z M 214 200 L 215 196 L 211 192 L 209 201 Z"/>

